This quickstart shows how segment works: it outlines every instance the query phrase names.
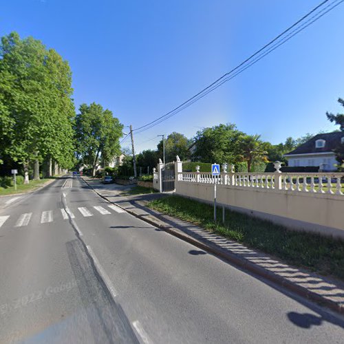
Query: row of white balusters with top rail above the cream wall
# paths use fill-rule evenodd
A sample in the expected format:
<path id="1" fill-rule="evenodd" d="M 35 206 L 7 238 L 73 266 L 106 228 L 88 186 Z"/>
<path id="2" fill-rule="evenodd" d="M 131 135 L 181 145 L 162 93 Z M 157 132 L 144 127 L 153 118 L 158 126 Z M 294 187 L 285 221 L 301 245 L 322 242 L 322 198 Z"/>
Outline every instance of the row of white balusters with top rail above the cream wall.
<path id="1" fill-rule="evenodd" d="M 344 195 L 344 173 L 178 173 L 180 182 Z"/>

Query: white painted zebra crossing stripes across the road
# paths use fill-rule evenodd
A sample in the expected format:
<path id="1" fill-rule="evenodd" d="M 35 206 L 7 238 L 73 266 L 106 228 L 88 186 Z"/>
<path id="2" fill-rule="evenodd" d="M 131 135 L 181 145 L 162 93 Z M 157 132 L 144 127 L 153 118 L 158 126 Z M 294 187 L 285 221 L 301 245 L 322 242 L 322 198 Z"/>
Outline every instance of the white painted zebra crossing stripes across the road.
<path id="1" fill-rule="evenodd" d="M 125 211 L 122 208 L 120 208 L 119 206 L 116 206 L 114 204 L 109 204 L 107 206 L 107 208 L 114 211 L 115 213 L 125 213 Z M 85 206 L 80 206 L 77 208 L 78 213 L 75 213 L 75 211 L 74 211 L 74 213 L 80 214 L 83 217 L 92 217 L 94 215 L 110 215 L 111 211 L 109 211 L 107 208 L 105 208 L 103 206 L 92 206 L 89 208 L 87 208 Z M 41 224 L 47 224 L 50 222 L 54 222 L 54 220 L 59 219 L 61 217 L 63 220 L 69 219 L 69 217 L 74 219 L 76 217 L 76 215 L 74 213 L 68 207 L 61 208 L 60 212 L 54 212 L 52 210 L 42 211 L 39 215 L 39 222 Z M 33 215 L 34 215 L 33 213 L 23 213 L 23 214 L 19 215 L 19 218 L 15 222 L 14 227 L 19 228 L 19 227 L 28 226 L 28 224 L 30 224 L 30 221 L 34 217 Z M 13 215 L 0 216 L 0 228 L 1 228 L 1 226 L 3 226 L 3 224 L 8 222 L 10 217 L 13 217 Z"/>

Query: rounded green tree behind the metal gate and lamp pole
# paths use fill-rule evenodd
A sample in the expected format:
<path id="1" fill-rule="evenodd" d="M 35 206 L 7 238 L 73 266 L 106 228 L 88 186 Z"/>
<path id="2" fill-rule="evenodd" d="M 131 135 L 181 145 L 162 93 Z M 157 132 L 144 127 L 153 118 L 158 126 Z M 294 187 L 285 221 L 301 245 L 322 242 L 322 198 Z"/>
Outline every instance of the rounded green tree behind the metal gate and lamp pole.
<path id="1" fill-rule="evenodd" d="M 182 133 L 170 133 L 165 140 L 165 160 L 171 162 L 175 160 L 175 156 L 178 155 L 181 160 L 186 160 L 191 157 L 189 151 L 189 140 Z M 158 143 L 158 155 L 162 159 L 163 144 L 162 140 Z"/>

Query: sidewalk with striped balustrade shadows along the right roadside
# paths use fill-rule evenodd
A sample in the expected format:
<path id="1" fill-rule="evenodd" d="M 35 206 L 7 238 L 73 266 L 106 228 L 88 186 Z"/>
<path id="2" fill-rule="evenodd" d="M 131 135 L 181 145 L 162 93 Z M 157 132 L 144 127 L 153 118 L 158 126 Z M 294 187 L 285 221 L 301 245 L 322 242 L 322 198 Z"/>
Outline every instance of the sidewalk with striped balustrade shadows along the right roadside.
<path id="1" fill-rule="evenodd" d="M 103 185 L 98 180 L 92 180 L 92 178 L 83 177 L 83 179 L 101 197 L 109 202 L 116 203 L 131 215 L 139 217 L 145 222 L 149 222 L 153 226 L 188 241 L 207 252 L 211 252 L 226 261 L 230 261 L 243 270 L 249 270 L 279 284 L 283 288 L 296 292 L 301 297 L 306 297 L 344 314 L 344 283 L 341 281 L 288 266 L 283 261 L 272 258 L 263 252 L 252 250 L 208 230 L 147 208 L 148 202 L 165 197 L 166 194 L 152 193 L 122 196 L 120 195 L 122 191 L 133 186 Z"/>

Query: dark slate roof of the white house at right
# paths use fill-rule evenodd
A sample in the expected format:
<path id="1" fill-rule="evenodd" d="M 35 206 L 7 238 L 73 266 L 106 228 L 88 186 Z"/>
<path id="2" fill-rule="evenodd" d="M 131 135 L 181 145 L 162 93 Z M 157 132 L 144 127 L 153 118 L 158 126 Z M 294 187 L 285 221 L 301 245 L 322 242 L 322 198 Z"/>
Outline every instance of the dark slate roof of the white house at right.
<path id="1" fill-rule="evenodd" d="M 294 151 L 290 151 L 285 155 L 293 155 L 293 154 L 309 154 L 309 153 L 332 153 L 332 151 L 341 144 L 341 138 L 344 137 L 344 131 L 334 131 L 333 133 L 319 133 L 318 135 L 314 136 L 307 142 L 301 144 L 301 146 L 294 149 Z M 316 140 L 325 140 L 325 147 L 316 148 L 315 141 Z"/>

